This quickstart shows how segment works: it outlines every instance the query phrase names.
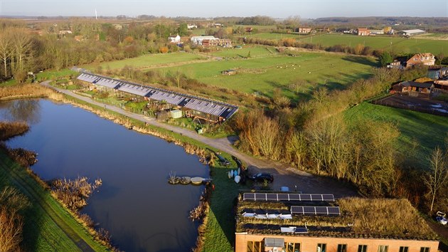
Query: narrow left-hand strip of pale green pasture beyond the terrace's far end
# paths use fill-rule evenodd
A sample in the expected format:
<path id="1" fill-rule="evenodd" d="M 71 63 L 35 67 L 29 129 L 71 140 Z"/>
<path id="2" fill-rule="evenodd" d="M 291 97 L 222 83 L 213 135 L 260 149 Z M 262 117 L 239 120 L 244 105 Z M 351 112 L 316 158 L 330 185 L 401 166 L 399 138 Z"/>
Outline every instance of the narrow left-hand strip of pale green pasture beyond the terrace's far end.
<path id="1" fill-rule="evenodd" d="M 146 54 L 137 58 L 127 58 L 122 61 L 111 61 L 103 63 L 92 63 L 84 65 L 83 68 L 87 68 L 95 71 L 98 65 L 101 65 L 103 69 L 117 69 L 123 68 L 126 65 L 130 65 L 134 68 L 151 68 L 154 66 L 170 65 L 174 63 L 188 63 L 192 61 L 199 61 L 206 59 L 203 56 L 198 56 L 193 53 L 156 53 Z"/>

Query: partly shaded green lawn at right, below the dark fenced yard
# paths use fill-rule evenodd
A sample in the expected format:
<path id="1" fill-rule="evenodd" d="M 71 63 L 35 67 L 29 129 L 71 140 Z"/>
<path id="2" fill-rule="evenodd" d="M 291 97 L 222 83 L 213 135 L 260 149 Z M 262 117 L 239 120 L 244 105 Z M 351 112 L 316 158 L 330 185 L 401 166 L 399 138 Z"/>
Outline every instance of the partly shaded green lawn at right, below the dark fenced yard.
<path id="1" fill-rule="evenodd" d="M 357 120 L 378 120 L 392 122 L 400 130 L 396 143 L 397 149 L 408 162 L 416 162 L 417 166 L 428 167 L 428 157 L 437 145 L 444 146 L 445 137 L 448 137 L 447 117 L 430 115 L 411 110 L 402 110 L 395 107 L 361 103 L 346 110 L 345 117 L 348 122 Z"/>

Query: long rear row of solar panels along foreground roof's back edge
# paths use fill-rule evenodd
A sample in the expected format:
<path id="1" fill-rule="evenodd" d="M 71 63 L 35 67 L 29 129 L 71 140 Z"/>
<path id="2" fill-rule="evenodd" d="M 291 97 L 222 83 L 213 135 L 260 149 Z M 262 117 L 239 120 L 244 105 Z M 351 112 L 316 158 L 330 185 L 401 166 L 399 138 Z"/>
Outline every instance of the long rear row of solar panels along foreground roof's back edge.
<path id="1" fill-rule="evenodd" d="M 242 200 L 252 201 L 334 201 L 333 194 L 265 194 L 244 193 Z"/>

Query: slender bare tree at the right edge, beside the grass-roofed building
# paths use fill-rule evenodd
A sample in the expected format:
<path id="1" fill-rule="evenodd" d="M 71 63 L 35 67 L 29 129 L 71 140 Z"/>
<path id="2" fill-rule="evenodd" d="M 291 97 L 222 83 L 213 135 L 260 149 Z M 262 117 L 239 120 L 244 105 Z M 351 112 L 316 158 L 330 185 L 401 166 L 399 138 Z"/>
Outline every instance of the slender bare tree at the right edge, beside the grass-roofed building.
<path id="1" fill-rule="evenodd" d="M 432 207 L 434 206 L 434 200 L 437 196 L 437 192 L 444 184 L 447 182 L 447 160 L 444 157 L 442 149 L 436 147 L 430 157 L 431 169 L 427 172 L 426 176 L 423 177 L 423 182 L 428 188 L 428 194 L 431 199 L 430 213 L 432 212 Z"/>

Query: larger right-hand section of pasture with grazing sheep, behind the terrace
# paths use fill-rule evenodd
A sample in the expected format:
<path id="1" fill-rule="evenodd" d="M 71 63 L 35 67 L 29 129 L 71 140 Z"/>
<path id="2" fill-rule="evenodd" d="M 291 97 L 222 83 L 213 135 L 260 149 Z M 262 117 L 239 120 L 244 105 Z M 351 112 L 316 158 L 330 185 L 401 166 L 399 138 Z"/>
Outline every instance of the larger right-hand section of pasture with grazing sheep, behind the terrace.
<path id="1" fill-rule="evenodd" d="M 208 85 L 251 94 L 257 92 L 268 97 L 272 96 L 274 88 L 280 88 L 284 91 L 284 95 L 296 99 L 297 95 L 294 92 L 309 95 L 319 85 L 326 85 L 330 89 L 343 88 L 358 78 L 368 78 L 370 70 L 376 64 L 373 58 L 299 52 L 293 57 L 270 53 L 262 48 L 253 49 L 254 58 L 252 58 L 252 49 L 249 48 L 233 49 L 233 51 L 224 51 L 222 54 L 235 53 L 247 56 L 245 53 L 248 51 L 251 51 L 251 58 L 247 59 L 238 56 L 237 59 L 232 58 L 228 61 L 191 63 L 161 69 L 180 70 L 189 78 L 195 78 Z M 220 73 L 227 69 L 235 69 L 238 73 L 231 76 Z M 291 90 L 289 84 L 294 80 L 302 83 Z"/>

